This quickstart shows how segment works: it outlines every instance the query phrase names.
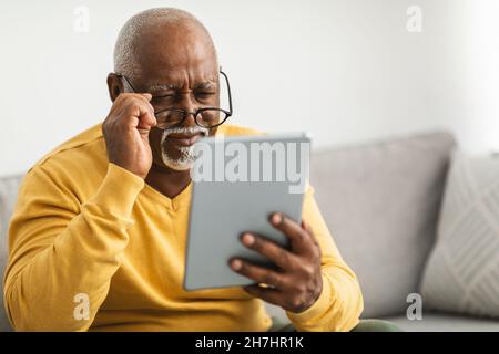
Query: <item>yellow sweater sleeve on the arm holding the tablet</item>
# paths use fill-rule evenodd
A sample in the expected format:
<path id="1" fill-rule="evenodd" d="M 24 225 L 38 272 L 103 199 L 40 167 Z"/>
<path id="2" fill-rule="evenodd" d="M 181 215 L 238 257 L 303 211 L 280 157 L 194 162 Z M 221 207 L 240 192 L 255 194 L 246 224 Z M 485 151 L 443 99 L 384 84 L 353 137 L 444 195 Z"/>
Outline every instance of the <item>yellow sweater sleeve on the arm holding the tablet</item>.
<path id="1" fill-rule="evenodd" d="M 304 197 L 303 220 L 310 226 L 322 249 L 323 291 L 304 312 L 286 314 L 298 331 L 350 331 L 364 310 L 360 287 L 342 259 L 313 194 L 309 187 Z"/>

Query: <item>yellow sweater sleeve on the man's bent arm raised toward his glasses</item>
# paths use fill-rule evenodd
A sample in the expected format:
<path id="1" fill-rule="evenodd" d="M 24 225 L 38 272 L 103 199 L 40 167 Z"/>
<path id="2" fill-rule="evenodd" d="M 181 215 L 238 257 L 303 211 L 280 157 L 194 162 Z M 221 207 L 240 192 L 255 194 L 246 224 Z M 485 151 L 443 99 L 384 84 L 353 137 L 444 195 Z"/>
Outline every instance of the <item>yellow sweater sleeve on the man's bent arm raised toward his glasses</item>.
<path id="1" fill-rule="evenodd" d="M 89 200 L 37 166 L 26 176 L 9 228 L 4 303 L 18 331 L 85 331 L 126 248 L 144 181 L 108 165 Z M 78 305 L 88 309 L 78 315 Z"/>

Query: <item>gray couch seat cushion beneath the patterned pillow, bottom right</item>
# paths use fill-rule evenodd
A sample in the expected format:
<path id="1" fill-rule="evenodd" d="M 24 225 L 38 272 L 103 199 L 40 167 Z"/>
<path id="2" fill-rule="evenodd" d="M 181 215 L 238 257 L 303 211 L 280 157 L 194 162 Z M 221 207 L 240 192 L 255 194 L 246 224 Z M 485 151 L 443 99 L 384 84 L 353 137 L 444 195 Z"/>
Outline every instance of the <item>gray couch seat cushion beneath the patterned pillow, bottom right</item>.
<path id="1" fill-rule="evenodd" d="M 499 321 L 445 313 L 425 313 L 421 320 L 406 316 L 385 317 L 405 332 L 499 332 Z"/>

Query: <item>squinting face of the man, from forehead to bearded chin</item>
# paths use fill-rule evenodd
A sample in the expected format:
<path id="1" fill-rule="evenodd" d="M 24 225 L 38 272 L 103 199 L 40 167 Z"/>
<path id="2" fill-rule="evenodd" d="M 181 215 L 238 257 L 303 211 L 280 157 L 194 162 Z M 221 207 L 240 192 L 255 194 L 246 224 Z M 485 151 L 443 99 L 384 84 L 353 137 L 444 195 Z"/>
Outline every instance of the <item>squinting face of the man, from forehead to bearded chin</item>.
<path id="1" fill-rule="evenodd" d="M 218 107 L 216 54 L 202 30 L 151 29 L 138 50 L 141 76 L 135 81 L 141 90 L 153 95 L 154 111 Z M 153 164 L 163 169 L 186 170 L 194 162 L 194 143 L 215 133 L 216 127 L 196 125 L 192 114 L 180 126 L 153 128 L 150 133 Z"/>

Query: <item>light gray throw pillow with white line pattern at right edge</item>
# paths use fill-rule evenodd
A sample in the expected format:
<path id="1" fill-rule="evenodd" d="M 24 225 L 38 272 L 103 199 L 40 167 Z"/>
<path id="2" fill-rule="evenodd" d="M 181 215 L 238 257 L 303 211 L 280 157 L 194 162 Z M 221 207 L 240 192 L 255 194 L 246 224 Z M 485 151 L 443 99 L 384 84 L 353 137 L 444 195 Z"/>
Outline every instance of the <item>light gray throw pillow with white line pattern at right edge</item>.
<path id="1" fill-rule="evenodd" d="M 499 157 L 454 156 L 421 290 L 427 309 L 499 319 Z"/>

